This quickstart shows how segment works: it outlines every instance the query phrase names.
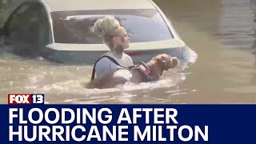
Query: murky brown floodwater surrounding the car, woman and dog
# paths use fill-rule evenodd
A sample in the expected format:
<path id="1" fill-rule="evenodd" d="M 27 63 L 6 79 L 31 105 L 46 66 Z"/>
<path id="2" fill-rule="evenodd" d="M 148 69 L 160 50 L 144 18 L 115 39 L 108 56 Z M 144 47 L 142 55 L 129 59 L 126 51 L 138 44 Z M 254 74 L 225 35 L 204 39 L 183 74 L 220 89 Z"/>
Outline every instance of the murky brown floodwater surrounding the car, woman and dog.
<path id="1" fill-rule="evenodd" d="M 256 0 L 255 0 L 256 1 Z M 0 52 L 0 103 L 42 93 L 47 103 L 256 103 L 256 2 L 156 1 L 198 59 L 158 82 L 87 90 L 92 66 L 61 66 Z"/>

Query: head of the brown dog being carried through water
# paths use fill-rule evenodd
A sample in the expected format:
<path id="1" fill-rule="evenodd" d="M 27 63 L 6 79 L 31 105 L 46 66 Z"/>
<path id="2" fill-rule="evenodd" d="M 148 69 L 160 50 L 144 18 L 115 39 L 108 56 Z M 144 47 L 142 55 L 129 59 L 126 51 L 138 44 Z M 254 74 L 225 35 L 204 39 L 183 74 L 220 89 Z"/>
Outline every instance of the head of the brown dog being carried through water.
<path id="1" fill-rule="evenodd" d="M 171 57 L 168 54 L 159 54 L 146 64 L 150 69 L 154 69 L 154 75 L 159 78 L 164 70 L 169 70 L 170 68 L 177 66 L 178 59 L 176 57 Z"/>

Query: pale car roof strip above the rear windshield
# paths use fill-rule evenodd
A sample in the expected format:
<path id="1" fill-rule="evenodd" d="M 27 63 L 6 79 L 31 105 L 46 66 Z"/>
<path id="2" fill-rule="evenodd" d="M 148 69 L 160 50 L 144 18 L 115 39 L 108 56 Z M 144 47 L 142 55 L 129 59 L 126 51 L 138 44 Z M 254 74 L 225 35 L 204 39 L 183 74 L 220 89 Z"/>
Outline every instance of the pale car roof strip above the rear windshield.
<path id="1" fill-rule="evenodd" d="M 45 0 L 52 11 L 155 9 L 150 0 Z"/>

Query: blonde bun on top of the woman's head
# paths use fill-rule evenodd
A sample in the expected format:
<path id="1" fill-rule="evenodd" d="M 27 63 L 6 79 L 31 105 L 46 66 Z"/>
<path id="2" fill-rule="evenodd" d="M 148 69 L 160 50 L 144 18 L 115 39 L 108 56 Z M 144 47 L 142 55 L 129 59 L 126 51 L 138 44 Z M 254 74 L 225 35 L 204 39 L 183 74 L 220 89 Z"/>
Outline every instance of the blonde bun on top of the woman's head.
<path id="1" fill-rule="evenodd" d="M 118 26 L 120 26 L 120 23 L 114 17 L 98 19 L 94 23 L 94 34 L 98 37 L 103 37 L 107 32 Z"/>

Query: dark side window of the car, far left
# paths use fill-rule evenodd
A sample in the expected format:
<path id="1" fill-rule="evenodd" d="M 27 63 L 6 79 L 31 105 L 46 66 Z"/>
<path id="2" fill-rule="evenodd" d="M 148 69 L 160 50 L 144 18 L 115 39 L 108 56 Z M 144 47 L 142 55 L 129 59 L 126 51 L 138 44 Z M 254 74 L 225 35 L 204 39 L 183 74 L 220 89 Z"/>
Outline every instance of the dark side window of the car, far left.
<path id="1" fill-rule="evenodd" d="M 11 42 L 34 45 L 49 42 L 46 11 L 39 4 L 19 7 L 6 22 L 5 29 Z"/>

